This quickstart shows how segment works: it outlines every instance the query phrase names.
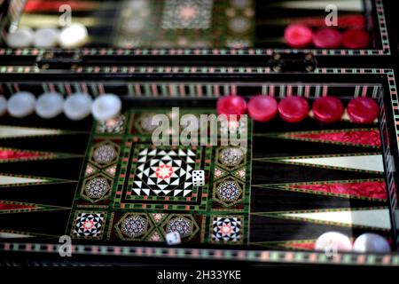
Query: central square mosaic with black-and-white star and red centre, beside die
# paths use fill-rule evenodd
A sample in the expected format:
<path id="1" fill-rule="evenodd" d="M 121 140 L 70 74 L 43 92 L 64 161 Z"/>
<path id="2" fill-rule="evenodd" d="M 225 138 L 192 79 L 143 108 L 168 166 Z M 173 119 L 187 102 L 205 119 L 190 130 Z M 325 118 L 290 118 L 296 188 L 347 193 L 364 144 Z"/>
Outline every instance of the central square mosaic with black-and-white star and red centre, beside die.
<path id="1" fill-rule="evenodd" d="M 205 170 L 208 178 L 211 155 L 212 146 L 154 146 L 150 137 L 128 139 L 113 207 L 205 210 L 209 185 L 194 186 L 192 171 Z"/>

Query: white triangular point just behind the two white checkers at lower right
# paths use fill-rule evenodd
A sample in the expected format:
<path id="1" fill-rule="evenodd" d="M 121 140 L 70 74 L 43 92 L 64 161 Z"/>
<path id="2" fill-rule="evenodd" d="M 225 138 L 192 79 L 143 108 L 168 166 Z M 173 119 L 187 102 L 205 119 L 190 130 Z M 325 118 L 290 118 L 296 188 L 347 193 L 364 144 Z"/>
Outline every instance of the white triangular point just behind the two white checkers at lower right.
<path id="1" fill-rule="evenodd" d="M 388 209 L 343 210 L 311 213 L 286 213 L 284 217 L 333 222 L 350 226 L 365 226 L 384 230 L 391 229 Z"/>

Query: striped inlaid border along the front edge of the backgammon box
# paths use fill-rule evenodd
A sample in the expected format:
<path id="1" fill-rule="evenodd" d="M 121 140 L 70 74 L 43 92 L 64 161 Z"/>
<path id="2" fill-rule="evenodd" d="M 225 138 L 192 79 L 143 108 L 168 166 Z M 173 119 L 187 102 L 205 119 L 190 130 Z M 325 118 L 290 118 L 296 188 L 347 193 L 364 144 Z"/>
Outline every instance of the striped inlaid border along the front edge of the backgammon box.
<path id="1" fill-rule="evenodd" d="M 62 245 L 41 243 L 0 243 L 0 251 L 59 254 Z M 356 255 L 339 254 L 328 257 L 317 252 L 285 252 L 277 250 L 231 250 L 196 248 L 148 248 L 72 245 L 72 255 L 85 256 L 125 256 L 150 258 L 202 259 L 221 261 L 249 261 L 279 264 L 338 264 L 338 265 L 375 265 L 399 266 L 399 254 L 392 255 Z"/>

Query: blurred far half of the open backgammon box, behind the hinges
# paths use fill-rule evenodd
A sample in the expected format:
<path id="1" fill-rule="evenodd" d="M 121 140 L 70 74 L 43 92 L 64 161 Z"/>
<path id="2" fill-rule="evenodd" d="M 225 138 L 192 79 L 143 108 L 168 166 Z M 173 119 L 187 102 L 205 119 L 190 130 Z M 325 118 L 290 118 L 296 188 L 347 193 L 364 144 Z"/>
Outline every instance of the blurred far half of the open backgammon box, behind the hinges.
<path id="1" fill-rule="evenodd" d="M 311 52 L 320 57 L 348 58 L 392 55 L 382 0 L 70 0 L 51 4 L 43 0 L 4 0 L 2 10 L 0 56 L 4 60 L 8 56 L 32 62 L 39 55 L 67 52 L 86 62 L 112 58 L 113 62 L 134 64 L 135 60 L 176 59 L 197 65 L 196 60 L 209 58 L 226 62 L 226 56 L 229 61 L 231 57 L 245 57 L 246 62 L 256 62 L 260 56 L 266 59 L 274 53 Z M 62 28 L 59 25 L 68 23 L 69 11 L 73 23 L 87 27 L 86 44 L 75 49 L 7 45 L 8 35 L 20 27 L 34 31 L 49 26 Z M 334 19 L 338 27 L 330 29 L 338 30 L 341 36 L 348 30 L 362 30 L 369 42 L 364 44 L 364 38 L 356 40 L 353 34 L 346 36 L 344 43 L 326 43 L 330 47 L 325 45 L 325 38 L 333 36 L 320 36 L 322 43 L 315 41 L 317 32 L 325 29 L 326 22 L 334 24 Z M 295 41 L 297 34 L 303 33 L 294 29 L 291 36 L 285 36 L 287 27 L 293 24 L 307 26 L 313 40 L 310 34 L 308 43 L 288 44 L 288 38 Z M 356 46 L 348 43 L 354 39 Z"/>

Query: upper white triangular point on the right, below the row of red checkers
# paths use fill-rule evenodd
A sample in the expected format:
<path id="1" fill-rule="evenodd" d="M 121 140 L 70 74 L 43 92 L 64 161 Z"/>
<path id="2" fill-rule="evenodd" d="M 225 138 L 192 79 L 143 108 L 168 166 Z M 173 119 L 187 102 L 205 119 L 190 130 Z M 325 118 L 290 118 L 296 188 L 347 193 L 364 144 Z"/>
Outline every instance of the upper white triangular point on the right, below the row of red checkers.
<path id="1" fill-rule="evenodd" d="M 301 163 L 306 165 L 334 167 L 350 170 L 368 170 L 384 172 L 384 162 L 382 155 L 356 155 L 356 156 L 340 156 L 340 157 L 316 157 L 316 158 L 296 158 L 283 159 L 282 162 Z"/>

